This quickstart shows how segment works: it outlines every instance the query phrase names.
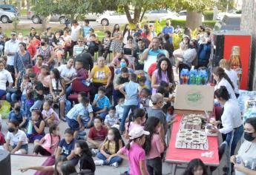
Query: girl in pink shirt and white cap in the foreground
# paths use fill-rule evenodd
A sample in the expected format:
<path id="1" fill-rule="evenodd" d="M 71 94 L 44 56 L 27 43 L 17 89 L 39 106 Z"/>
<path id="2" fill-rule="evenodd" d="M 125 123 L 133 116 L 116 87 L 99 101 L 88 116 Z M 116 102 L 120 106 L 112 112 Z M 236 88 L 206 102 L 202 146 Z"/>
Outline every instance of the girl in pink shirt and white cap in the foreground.
<path id="1" fill-rule="evenodd" d="M 144 131 L 143 128 L 132 129 L 129 133 L 128 144 L 116 153 L 123 159 L 128 158 L 129 174 L 148 175 L 145 165 L 145 151 L 142 148 L 145 144 L 145 136 L 148 135 L 149 132 Z"/>

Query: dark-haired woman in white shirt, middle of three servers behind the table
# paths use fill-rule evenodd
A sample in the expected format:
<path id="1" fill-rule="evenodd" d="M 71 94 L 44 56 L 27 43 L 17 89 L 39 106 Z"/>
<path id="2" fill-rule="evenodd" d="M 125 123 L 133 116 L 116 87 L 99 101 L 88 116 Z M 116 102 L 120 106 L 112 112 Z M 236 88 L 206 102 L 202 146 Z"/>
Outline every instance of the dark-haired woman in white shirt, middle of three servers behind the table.
<path id="1" fill-rule="evenodd" d="M 212 74 L 214 76 L 217 85 L 215 85 L 214 90 L 220 88 L 220 86 L 225 86 L 229 92 L 229 96 L 231 99 L 237 101 L 237 97 L 234 94 L 234 85 L 232 81 L 229 79 L 229 76 L 225 73 L 225 70 L 221 67 L 214 67 L 212 70 Z"/>

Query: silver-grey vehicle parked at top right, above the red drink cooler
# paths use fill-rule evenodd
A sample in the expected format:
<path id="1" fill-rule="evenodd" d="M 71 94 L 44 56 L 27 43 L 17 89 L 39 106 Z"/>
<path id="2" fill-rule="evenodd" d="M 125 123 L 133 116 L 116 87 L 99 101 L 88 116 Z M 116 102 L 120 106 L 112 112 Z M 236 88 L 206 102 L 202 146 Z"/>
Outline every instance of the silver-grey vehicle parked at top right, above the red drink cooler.
<path id="1" fill-rule="evenodd" d="M 240 23 L 240 14 L 226 14 L 220 22 L 216 22 L 214 30 L 240 30 Z"/>

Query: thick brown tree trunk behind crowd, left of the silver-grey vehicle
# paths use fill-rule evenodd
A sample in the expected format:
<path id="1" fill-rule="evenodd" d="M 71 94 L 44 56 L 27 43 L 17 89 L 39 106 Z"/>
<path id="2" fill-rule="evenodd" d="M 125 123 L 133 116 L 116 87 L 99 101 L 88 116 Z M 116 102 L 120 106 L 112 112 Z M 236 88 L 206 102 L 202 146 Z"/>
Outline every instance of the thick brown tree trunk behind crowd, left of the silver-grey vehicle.
<path id="1" fill-rule="evenodd" d="M 201 12 L 192 12 L 188 10 L 186 27 L 191 28 L 191 30 L 196 29 L 202 25 L 202 13 Z"/>

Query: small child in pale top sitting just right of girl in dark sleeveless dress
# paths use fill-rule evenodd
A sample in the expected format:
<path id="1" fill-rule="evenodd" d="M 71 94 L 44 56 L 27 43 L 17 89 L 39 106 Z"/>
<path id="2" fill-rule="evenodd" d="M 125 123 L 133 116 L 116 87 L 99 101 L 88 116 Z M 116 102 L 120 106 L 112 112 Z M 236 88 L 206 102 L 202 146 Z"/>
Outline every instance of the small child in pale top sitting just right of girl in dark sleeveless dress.
<path id="1" fill-rule="evenodd" d="M 50 125 L 59 125 L 59 116 L 52 108 L 53 102 L 50 100 L 46 100 L 43 105 L 42 114 L 47 126 Z"/>

